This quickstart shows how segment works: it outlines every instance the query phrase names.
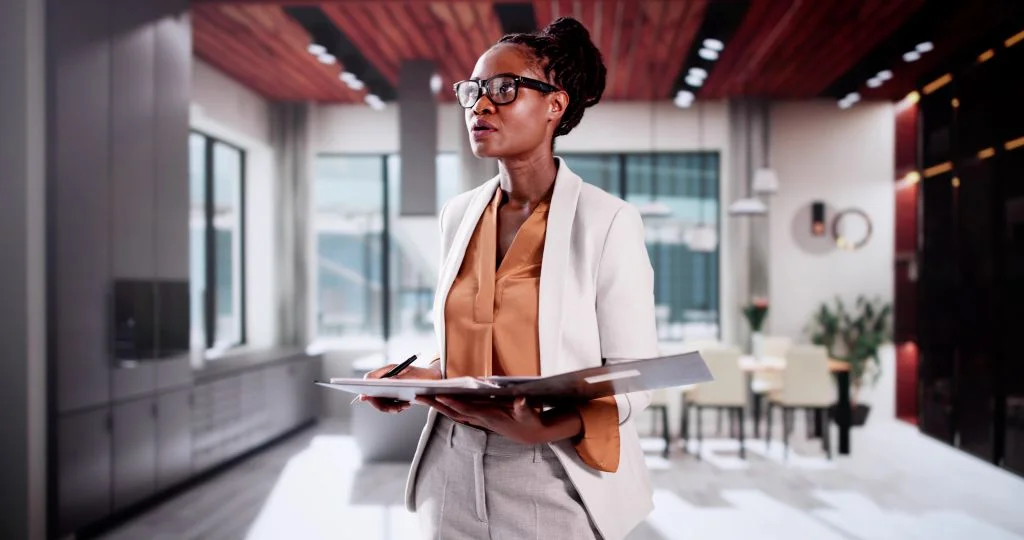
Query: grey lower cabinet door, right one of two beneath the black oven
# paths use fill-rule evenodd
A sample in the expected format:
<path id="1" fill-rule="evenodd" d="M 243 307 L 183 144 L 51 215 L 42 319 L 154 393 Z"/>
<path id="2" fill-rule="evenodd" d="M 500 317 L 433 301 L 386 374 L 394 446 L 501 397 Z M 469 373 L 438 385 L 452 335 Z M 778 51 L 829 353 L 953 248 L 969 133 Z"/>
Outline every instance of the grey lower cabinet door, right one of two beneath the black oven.
<path id="1" fill-rule="evenodd" d="M 157 399 L 157 489 L 191 474 L 191 388 Z"/>

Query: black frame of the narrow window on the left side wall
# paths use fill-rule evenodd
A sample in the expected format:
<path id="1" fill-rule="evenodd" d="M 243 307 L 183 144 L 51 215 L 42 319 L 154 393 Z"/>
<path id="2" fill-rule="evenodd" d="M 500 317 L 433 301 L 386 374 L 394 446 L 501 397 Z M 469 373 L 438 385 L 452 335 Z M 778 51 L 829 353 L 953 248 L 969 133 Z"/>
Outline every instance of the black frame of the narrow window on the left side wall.
<path id="1" fill-rule="evenodd" d="M 190 129 L 189 135 L 203 137 L 204 142 L 204 167 L 203 167 L 203 188 L 204 188 L 204 257 L 205 267 L 203 273 L 204 295 L 203 295 L 203 317 L 204 317 L 204 343 L 203 349 L 211 351 L 214 349 L 230 349 L 245 345 L 248 342 L 246 324 L 246 244 L 248 235 L 246 234 L 246 164 L 248 162 L 246 150 L 238 144 L 211 135 L 199 129 Z M 214 180 L 214 148 L 223 144 L 239 154 L 239 339 L 229 343 L 217 342 L 217 227 L 215 224 L 216 214 L 216 182 Z M 189 205 L 190 206 L 190 205 Z M 189 276 L 191 279 L 191 276 Z"/>

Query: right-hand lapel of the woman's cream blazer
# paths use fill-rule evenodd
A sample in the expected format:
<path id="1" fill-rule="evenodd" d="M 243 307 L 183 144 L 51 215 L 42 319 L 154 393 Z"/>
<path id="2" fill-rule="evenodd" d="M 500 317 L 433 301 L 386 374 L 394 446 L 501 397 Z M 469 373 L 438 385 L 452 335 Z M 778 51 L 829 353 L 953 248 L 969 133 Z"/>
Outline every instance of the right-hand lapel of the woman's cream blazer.
<path id="1" fill-rule="evenodd" d="M 569 262 L 572 222 L 583 180 L 558 158 L 558 175 L 551 194 L 548 229 L 544 239 L 544 263 L 541 265 L 541 291 L 538 307 L 538 338 L 541 347 L 541 374 L 562 370 L 559 343 L 562 338 L 562 295 Z"/>

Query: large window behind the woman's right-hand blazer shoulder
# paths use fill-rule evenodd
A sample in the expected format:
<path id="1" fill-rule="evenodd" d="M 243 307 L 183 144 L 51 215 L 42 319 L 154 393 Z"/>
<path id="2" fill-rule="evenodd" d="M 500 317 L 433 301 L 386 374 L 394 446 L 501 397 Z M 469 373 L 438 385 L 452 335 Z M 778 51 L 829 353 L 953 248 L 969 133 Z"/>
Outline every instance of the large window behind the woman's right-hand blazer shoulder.
<path id="1" fill-rule="evenodd" d="M 719 337 L 719 248 L 694 250 L 687 232 L 718 230 L 719 156 L 582 154 L 564 156 L 585 180 L 637 205 L 654 267 L 658 337 Z"/>

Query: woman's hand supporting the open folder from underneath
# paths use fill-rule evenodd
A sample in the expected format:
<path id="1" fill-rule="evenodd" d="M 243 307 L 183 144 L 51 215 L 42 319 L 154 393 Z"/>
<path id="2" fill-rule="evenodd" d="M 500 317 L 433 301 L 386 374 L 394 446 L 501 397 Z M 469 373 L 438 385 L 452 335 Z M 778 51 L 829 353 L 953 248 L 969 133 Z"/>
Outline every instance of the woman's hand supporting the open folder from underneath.
<path id="1" fill-rule="evenodd" d="M 583 430 L 583 420 L 574 409 L 540 413 L 526 405 L 525 398 L 512 402 L 483 402 L 423 396 L 417 401 L 457 422 L 488 429 L 523 445 L 571 439 Z"/>

